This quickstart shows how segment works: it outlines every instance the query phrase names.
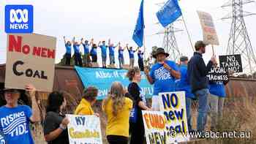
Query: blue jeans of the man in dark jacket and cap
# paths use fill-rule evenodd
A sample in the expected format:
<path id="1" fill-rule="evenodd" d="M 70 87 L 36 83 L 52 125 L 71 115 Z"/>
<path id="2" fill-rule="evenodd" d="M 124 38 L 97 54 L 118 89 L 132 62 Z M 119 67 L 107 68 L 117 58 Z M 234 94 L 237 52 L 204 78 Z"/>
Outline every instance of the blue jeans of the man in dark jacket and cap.
<path id="1" fill-rule="evenodd" d="M 197 115 L 197 132 L 203 132 L 206 127 L 207 112 L 208 112 L 208 88 L 195 91 L 195 96 L 198 99 L 198 115 Z"/>

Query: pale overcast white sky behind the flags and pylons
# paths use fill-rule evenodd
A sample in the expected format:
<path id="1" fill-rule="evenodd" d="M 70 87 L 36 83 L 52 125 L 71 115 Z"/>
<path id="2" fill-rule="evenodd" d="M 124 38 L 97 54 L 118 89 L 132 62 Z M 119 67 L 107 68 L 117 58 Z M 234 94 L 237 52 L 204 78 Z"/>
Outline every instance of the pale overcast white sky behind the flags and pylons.
<path id="1" fill-rule="evenodd" d="M 144 0 L 145 20 L 145 46 L 146 56 L 151 52 L 154 45 L 162 47 L 163 34 L 156 34 L 163 31 L 157 20 L 156 12 L 159 10 L 159 3 L 166 0 Z M 214 46 L 217 56 L 224 55 L 227 48 L 227 41 L 230 33 L 231 20 L 220 20 L 229 12 L 231 7 L 222 9 L 221 6 L 226 0 L 181 0 L 179 1 L 185 22 L 192 38 L 192 43 L 203 39 L 200 21 L 197 10 L 209 12 L 214 18 L 220 45 Z M 7 34 L 4 32 L 4 6 L 6 4 L 32 4 L 34 6 L 34 33 L 45 34 L 57 38 L 56 63 L 65 53 L 63 36 L 67 39 L 76 37 L 79 40 L 94 38 L 97 43 L 102 40 L 121 45 L 128 43 L 137 47 L 132 40 L 132 33 L 138 18 L 140 0 L 7 0 L 0 1 L 0 64 L 6 62 Z M 256 13 L 256 4 L 247 4 L 244 10 Z M 245 18 L 252 47 L 256 49 L 256 16 Z M 184 31 L 177 32 L 176 39 L 178 48 L 184 56 L 192 56 L 192 48 L 189 43 L 184 23 L 177 21 L 174 26 Z M 83 49 L 82 47 L 80 47 Z M 255 50 L 256 51 L 256 50 Z M 98 50 L 98 53 L 100 51 Z M 208 61 L 211 58 L 211 47 L 206 49 L 204 56 Z M 125 63 L 128 64 L 128 52 L 124 52 Z M 117 58 L 117 54 L 116 54 Z"/>

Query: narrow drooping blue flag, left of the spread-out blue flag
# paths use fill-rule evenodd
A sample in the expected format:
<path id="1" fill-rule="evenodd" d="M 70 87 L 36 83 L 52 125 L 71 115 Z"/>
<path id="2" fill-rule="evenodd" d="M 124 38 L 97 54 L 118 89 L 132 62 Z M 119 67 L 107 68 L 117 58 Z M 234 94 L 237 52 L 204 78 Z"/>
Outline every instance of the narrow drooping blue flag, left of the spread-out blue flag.
<path id="1" fill-rule="evenodd" d="M 142 0 L 140 4 L 139 16 L 135 26 L 135 31 L 133 32 L 133 35 L 132 35 L 132 39 L 136 42 L 136 44 L 139 47 L 143 46 L 143 35 L 144 35 L 144 28 L 145 28 L 144 16 L 143 16 L 143 1 L 144 0 Z"/>

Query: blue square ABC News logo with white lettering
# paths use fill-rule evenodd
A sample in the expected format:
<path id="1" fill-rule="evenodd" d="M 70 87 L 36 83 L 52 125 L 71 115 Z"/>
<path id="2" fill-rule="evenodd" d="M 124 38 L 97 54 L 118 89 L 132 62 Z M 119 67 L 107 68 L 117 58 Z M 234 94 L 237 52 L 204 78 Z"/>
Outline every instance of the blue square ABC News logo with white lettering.
<path id="1" fill-rule="evenodd" d="M 33 19 L 32 5 L 5 6 L 6 33 L 32 33 Z"/>

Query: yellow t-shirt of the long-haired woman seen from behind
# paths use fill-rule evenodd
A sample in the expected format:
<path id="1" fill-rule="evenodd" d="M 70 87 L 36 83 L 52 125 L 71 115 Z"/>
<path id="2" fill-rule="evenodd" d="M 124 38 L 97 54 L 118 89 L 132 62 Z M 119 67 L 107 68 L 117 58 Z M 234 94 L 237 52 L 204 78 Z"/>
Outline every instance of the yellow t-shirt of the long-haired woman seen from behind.
<path id="1" fill-rule="evenodd" d="M 108 116 L 108 124 L 106 126 L 106 135 L 118 135 L 129 137 L 129 111 L 132 109 L 132 100 L 125 97 L 124 107 L 118 111 L 117 115 L 113 115 L 113 101 L 110 99 L 108 103 L 102 106 L 102 110 Z"/>

